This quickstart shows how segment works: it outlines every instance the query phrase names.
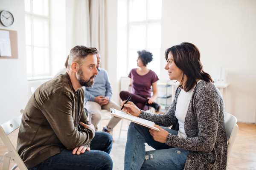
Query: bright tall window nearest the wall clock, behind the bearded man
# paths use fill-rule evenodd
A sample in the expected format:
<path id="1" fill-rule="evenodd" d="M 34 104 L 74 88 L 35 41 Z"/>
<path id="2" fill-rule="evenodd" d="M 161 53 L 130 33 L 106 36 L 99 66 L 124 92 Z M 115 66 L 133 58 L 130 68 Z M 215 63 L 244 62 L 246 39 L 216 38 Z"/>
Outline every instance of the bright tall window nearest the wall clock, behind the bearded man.
<path id="1" fill-rule="evenodd" d="M 27 75 L 50 75 L 48 0 L 25 0 L 25 13 Z"/>

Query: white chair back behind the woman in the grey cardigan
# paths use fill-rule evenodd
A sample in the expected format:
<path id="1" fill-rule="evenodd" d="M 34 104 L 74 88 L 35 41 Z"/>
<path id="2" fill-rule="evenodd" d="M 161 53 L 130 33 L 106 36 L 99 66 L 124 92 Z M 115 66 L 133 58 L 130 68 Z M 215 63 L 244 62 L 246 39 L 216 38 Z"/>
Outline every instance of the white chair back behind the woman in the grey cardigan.
<path id="1" fill-rule="evenodd" d="M 230 153 L 233 147 L 233 144 L 238 133 L 238 125 L 236 125 L 237 119 L 232 114 L 224 112 L 224 121 L 225 121 L 225 130 L 227 135 L 227 166 L 230 159 Z M 226 167 L 227 170 L 227 167 Z"/>

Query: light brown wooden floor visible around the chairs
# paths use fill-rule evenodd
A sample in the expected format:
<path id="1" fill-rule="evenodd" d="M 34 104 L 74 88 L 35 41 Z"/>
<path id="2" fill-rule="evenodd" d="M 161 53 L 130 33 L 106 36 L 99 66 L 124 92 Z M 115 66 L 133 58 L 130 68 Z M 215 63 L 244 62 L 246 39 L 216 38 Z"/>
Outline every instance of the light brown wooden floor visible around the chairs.
<path id="1" fill-rule="evenodd" d="M 102 121 L 102 127 L 108 123 Z M 230 156 L 228 170 L 256 170 L 256 125 L 238 122 L 239 131 L 236 136 L 236 141 L 233 145 L 232 153 Z M 114 139 L 118 140 L 120 129 L 120 122 L 114 128 Z M 17 133 L 15 130 L 9 135 L 10 140 L 16 147 Z M 7 152 L 2 140 L 0 139 L 0 170 L 3 167 L 3 155 Z M 14 165 L 11 161 L 10 169 Z M 19 168 L 17 168 L 19 170 Z"/>

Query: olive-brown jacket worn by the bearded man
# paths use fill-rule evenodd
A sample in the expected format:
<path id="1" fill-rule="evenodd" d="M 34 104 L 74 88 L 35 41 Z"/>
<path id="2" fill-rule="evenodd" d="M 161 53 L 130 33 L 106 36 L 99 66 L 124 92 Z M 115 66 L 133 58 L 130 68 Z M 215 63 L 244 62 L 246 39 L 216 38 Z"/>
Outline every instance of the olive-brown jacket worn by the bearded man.
<path id="1" fill-rule="evenodd" d="M 17 152 L 26 167 L 60 153 L 61 147 L 90 146 L 94 131 L 80 126 L 79 132 L 78 122 L 89 125 L 83 89 L 75 91 L 67 73 L 42 84 L 26 105 L 17 139 Z"/>

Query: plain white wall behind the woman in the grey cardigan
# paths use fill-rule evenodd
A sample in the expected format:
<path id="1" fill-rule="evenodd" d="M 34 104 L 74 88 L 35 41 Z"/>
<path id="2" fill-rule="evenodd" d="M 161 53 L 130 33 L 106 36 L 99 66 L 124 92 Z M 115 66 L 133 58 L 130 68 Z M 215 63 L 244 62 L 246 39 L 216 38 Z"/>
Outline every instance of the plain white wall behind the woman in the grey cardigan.
<path id="1" fill-rule="evenodd" d="M 164 51 L 191 42 L 204 71 L 225 67 L 230 86 L 225 111 L 256 122 L 256 1 L 163 0 L 160 81 L 168 79 Z"/>

